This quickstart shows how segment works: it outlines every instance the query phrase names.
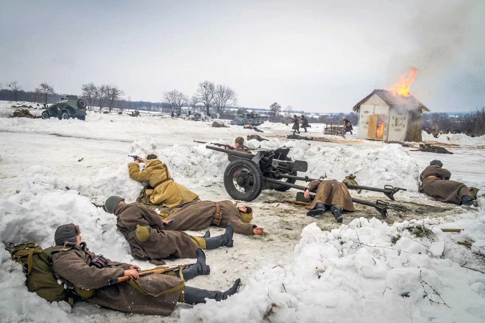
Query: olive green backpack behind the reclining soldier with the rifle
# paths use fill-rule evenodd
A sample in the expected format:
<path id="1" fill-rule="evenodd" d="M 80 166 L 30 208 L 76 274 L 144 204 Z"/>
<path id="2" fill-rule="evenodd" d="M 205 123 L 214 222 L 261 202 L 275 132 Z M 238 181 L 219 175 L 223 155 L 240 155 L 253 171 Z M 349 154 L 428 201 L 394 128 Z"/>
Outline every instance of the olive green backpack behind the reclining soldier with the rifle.
<path id="1" fill-rule="evenodd" d="M 27 276 L 27 289 L 48 302 L 67 300 L 64 284 L 59 285 L 52 270 L 52 247 L 45 250 L 35 243 L 25 242 L 14 247 L 10 254 L 20 263 Z"/>

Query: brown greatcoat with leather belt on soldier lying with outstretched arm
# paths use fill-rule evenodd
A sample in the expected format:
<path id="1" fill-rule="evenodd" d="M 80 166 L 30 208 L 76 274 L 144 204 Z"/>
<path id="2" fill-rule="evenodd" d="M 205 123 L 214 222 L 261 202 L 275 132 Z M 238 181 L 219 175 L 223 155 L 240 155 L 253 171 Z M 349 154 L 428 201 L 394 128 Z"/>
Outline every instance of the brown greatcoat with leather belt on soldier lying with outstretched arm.
<path id="1" fill-rule="evenodd" d="M 241 220 L 239 209 L 231 201 L 220 201 L 219 209 L 222 213 L 220 227 L 231 224 L 234 232 L 242 234 L 253 234 L 253 228 L 257 227 L 251 223 L 244 223 Z M 175 211 L 172 211 L 177 209 Z M 165 225 L 165 230 L 200 230 L 212 224 L 215 214 L 215 203 L 212 201 L 191 201 L 161 210 L 161 212 L 172 211 L 168 220 L 174 220 L 173 224 Z"/>

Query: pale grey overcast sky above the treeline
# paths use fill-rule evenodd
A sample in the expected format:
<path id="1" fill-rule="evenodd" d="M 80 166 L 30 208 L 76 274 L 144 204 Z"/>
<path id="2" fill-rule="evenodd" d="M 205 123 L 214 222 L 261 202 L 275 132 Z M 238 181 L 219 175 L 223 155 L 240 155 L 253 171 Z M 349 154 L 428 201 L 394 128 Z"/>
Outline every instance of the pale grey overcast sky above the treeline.
<path id="1" fill-rule="evenodd" d="M 485 105 L 485 0 L 1 1 L 0 82 L 132 100 L 227 84 L 239 104 L 349 112 L 419 69 L 432 111 Z"/>

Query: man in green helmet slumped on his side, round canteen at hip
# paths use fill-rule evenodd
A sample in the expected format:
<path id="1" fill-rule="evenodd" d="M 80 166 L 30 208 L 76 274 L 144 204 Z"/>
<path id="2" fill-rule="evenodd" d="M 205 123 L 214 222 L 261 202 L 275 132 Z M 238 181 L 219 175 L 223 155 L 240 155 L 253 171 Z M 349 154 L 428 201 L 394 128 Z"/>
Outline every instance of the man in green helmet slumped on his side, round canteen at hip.
<path id="1" fill-rule="evenodd" d="M 195 258 L 197 248 L 209 250 L 233 244 L 233 229 L 229 224 L 220 236 L 195 237 L 168 229 L 156 211 L 136 202 L 127 204 L 120 196 L 110 196 L 104 209 L 116 215 L 116 226 L 129 242 L 131 255 L 154 264 L 164 264 L 163 258 Z"/>

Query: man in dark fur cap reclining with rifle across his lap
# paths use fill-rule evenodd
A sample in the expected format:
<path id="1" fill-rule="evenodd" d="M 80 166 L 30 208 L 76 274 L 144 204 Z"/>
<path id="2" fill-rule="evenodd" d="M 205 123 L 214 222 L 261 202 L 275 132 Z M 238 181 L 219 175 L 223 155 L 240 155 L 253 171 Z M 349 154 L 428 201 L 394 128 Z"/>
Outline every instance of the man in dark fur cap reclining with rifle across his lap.
<path id="1" fill-rule="evenodd" d="M 88 251 L 86 243 L 81 242 L 79 226 L 72 223 L 59 226 L 54 240 L 56 246 L 52 251 L 52 263 L 59 279 L 73 287 L 86 302 L 124 312 L 170 315 L 177 302 L 199 304 L 205 303 L 206 298 L 225 300 L 235 294 L 241 284 L 238 278 L 225 292 L 185 286 L 184 279 L 210 273 L 202 250 L 197 253 L 197 262 L 183 268 L 181 275 L 175 271 L 168 275 L 140 276 L 137 265 L 111 261 Z M 131 279 L 108 285 L 110 279 L 122 276 Z"/>

